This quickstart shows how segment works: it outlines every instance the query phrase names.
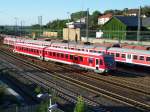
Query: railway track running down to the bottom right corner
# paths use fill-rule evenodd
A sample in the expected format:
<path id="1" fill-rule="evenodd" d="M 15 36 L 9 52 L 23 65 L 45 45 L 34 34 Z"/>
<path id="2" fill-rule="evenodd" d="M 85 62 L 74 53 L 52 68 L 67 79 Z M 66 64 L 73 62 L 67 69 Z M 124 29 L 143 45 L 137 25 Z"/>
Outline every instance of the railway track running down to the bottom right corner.
<path id="1" fill-rule="evenodd" d="M 35 65 L 34 65 L 35 66 Z M 41 67 L 40 67 L 41 69 Z M 47 70 L 45 68 L 42 68 L 44 70 Z M 103 89 L 100 89 L 98 87 L 95 87 L 95 86 L 92 86 L 90 84 L 87 84 L 87 83 L 84 83 L 84 82 L 81 82 L 79 80 L 75 80 L 75 79 L 72 79 L 70 77 L 67 77 L 67 76 L 63 76 L 63 75 L 60 75 L 58 73 L 54 73 L 53 74 L 55 75 L 55 77 L 57 76 L 57 78 L 60 78 L 61 77 L 61 80 L 64 80 L 68 83 L 72 83 L 74 84 L 75 86 L 78 86 L 78 87 L 81 87 L 83 89 L 86 89 L 90 92 L 93 92 L 95 94 L 98 94 L 98 95 L 102 95 L 104 97 L 107 97 L 109 99 L 112 99 L 112 100 L 115 100 L 117 102 L 121 102 L 123 104 L 126 104 L 126 105 L 129 105 L 129 106 L 134 106 L 136 108 L 139 108 L 139 109 L 142 109 L 144 111 L 148 110 L 149 109 L 149 105 L 146 105 L 146 104 L 143 104 L 143 103 L 140 103 L 140 102 L 137 102 L 137 101 L 134 101 L 134 100 L 131 100 L 131 99 L 128 99 L 126 97 L 122 97 L 120 95 L 117 95 L 117 94 L 114 94 L 114 93 L 111 93 L 109 91 L 106 91 L 106 90 L 103 90 Z"/>

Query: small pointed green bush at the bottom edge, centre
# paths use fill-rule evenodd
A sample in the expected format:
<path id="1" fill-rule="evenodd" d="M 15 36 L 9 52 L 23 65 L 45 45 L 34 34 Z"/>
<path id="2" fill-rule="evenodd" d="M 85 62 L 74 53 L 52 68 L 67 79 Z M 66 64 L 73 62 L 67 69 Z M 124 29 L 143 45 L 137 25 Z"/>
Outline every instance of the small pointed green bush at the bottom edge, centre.
<path id="1" fill-rule="evenodd" d="M 86 111 L 85 103 L 83 101 L 82 96 L 79 96 L 74 112 L 85 112 L 85 111 Z"/>

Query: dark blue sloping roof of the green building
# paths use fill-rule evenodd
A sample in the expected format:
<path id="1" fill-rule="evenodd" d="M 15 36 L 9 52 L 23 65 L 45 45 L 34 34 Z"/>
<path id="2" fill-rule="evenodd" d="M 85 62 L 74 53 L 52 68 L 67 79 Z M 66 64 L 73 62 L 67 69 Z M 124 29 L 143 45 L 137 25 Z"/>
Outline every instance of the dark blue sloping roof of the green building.
<path id="1" fill-rule="evenodd" d="M 138 17 L 137 16 L 114 16 L 119 19 L 122 23 L 127 26 L 137 27 L 138 26 Z"/>

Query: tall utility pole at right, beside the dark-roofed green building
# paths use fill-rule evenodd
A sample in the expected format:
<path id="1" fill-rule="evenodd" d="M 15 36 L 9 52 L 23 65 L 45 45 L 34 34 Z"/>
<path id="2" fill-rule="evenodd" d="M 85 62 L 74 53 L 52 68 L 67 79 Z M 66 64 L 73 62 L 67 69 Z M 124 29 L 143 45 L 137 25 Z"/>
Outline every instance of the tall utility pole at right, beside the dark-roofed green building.
<path id="1" fill-rule="evenodd" d="M 139 7 L 139 14 L 138 14 L 138 30 L 137 30 L 137 42 L 140 42 L 140 30 L 141 30 L 141 6 Z"/>

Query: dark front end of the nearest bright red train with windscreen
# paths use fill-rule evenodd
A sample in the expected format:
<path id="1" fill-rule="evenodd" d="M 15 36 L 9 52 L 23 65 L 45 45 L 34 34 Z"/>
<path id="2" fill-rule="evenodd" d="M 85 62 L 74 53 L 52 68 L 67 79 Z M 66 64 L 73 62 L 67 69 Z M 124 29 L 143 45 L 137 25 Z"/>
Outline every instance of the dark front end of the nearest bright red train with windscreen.
<path id="1" fill-rule="evenodd" d="M 113 56 L 105 55 L 104 63 L 105 63 L 105 72 L 110 73 L 116 70 L 116 62 Z"/>

